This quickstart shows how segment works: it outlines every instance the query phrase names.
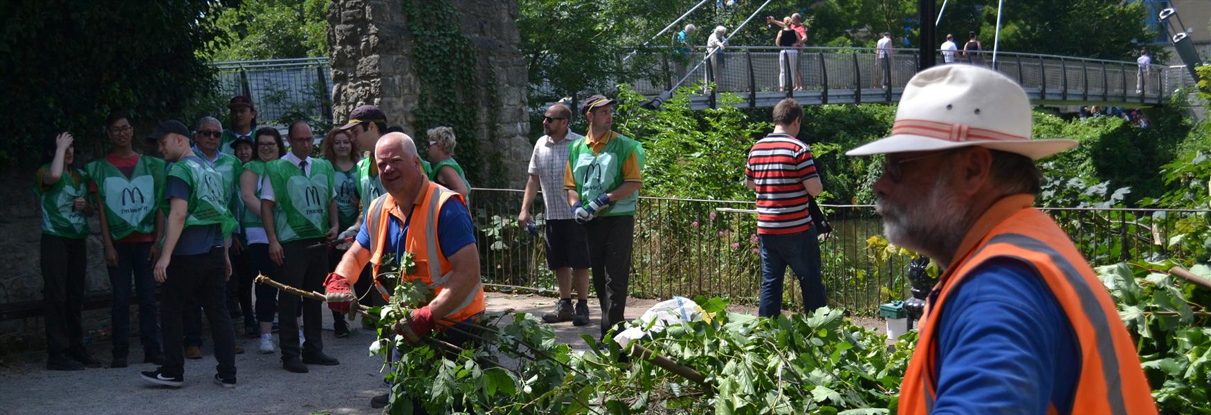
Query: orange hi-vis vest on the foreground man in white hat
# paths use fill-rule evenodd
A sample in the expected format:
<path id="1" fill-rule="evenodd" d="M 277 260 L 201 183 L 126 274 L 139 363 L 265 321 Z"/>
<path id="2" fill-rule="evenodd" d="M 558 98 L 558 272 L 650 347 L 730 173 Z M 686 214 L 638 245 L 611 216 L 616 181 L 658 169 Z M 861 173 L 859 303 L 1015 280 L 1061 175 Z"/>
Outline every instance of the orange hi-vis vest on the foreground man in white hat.
<path id="1" fill-rule="evenodd" d="M 1034 197 L 1001 198 L 968 232 L 957 260 L 934 287 L 920 336 L 900 390 L 900 414 L 928 414 L 936 400 L 937 317 L 947 296 L 993 258 L 1020 260 L 1048 284 L 1072 323 L 1080 348 L 1073 414 L 1155 414 L 1152 390 L 1114 301 L 1068 235 L 1033 208 Z M 1049 413 L 1056 413 L 1055 403 Z"/>

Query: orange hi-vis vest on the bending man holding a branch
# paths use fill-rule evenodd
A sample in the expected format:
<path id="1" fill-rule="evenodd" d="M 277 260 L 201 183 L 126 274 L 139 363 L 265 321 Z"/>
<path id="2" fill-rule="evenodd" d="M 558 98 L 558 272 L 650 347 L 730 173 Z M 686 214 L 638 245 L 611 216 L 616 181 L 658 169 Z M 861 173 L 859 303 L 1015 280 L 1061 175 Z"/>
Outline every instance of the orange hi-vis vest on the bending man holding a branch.
<path id="1" fill-rule="evenodd" d="M 450 277 L 454 275 L 454 267 L 446 258 L 446 253 L 438 249 L 438 212 L 442 211 L 442 206 L 446 204 L 446 202 L 452 197 L 458 197 L 460 201 L 464 198 L 463 195 L 442 188 L 436 183 L 427 181 L 427 184 L 429 186 L 423 190 L 424 195 L 421 196 L 420 202 L 412 209 L 412 220 L 408 224 L 407 235 L 403 236 L 403 249 L 404 252 L 412 253 L 412 260 L 417 264 L 415 271 L 413 273 L 404 275 L 403 279 L 409 282 L 419 279 L 432 288 L 435 295 L 441 295 L 442 290 L 446 288 L 446 283 L 448 283 Z M 388 219 L 391 215 L 391 209 L 396 208 L 396 204 L 395 198 L 391 197 L 390 194 L 379 196 L 372 203 L 369 218 L 366 218 L 366 230 L 369 232 L 369 240 L 373 244 L 371 249 L 371 263 L 374 264 L 373 270 L 377 282 L 379 266 L 383 264 L 383 255 L 395 254 L 384 250 L 386 248 L 388 238 Z M 400 211 L 403 213 L 402 208 Z M 478 270 L 476 270 L 476 272 L 478 272 Z M 438 277 L 434 278 L 434 276 Z M 475 289 L 467 293 L 467 295 L 459 301 L 459 306 L 454 309 L 453 313 L 449 316 L 434 317 L 446 317 L 461 322 L 469 318 L 477 319 L 480 315 L 483 313 L 483 283 L 476 278 Z M 442 329 L 446 324 L 447 323 L 440 322 L 437 328 Z"/>

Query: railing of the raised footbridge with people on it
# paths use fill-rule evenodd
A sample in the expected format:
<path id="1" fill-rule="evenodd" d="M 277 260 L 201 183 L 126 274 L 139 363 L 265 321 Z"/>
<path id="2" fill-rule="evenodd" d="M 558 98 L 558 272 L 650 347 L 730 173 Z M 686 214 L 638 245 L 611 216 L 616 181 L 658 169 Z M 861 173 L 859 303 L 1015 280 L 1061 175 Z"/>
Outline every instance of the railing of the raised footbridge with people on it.
<path id="1" fill-rule="evenodd" d="M 906 48 L 893 50 L 890 59 L 883 62 L 877 58 L 878 51 L 874 48 L 785 50 L 773 46 L 733 46 L 716 53 L 701 65 L 698 63 L 706 57 L 706 47 L 688 54 L 658 53 L 668 60 L 670 70 L 665 79 L 636 82 L 635 87 L 641 93 L 659 94 L 689 74 L 687 85 L 706 80 L 716 82 L 716 88 L 704 91 L 704 94 L 733 92 L 748 99 L 754 106 L 758 94 L 785 92 L 793 87 L 817 92 L 826 103 L 830 98 L 845 98 L 845 102 L 869 100 L 872 93 L 862 91 L 883 90 L 884 74 L 889 77 L 890 88 L 885 90 L 879 100 L 890 102 L 899 97 L 895 91 L 903 88 L 916 74 L 919 60 L 918 50 Z M 936 52 L 936 60 L 945 62 L 942 51 Z M 954 62 L 993 68 L 991 52 L 964 56 L 959 51 L 955 52 Z M 790 74 L 781 70 L 787 64 Z M 1163 65 L 1150 65 L 1141 73 L 1135 62 L 1037 53 L 999 52 L 994 69 L 1017 80 L 1032 92 L 1032 97 L 1043 100 L 1164 104 L 1173 87 L 1190 82 L 1188 76 L 1176 76 Z M 794 91 L 790 91 L 788 96 L 793 94 Z M 874 93 L 873 97 L 878 94 Z"/>

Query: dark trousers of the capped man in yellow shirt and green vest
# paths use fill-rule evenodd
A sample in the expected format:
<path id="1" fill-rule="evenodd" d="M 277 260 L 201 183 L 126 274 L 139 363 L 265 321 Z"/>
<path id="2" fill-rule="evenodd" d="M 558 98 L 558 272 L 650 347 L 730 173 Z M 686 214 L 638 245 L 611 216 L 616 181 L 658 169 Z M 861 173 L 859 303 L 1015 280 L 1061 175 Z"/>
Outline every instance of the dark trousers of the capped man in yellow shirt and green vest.
<path id="1" fill-rule="evenodd" d="M 602 309 L 602 336 L 622 323 L 631 281 L 635 217 L 603 217 L 585 224 L 593 289 Z"/>

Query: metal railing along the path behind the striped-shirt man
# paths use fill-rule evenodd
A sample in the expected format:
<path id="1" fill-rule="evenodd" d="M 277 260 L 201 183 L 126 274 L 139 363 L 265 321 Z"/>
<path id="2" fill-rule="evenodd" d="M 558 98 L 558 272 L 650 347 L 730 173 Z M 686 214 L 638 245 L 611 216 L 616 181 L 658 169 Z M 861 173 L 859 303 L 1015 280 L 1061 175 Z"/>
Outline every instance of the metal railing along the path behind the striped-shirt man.
<path id="1" fill-rule="evenodd" d="M 472 215 L 484 283 L 497 288 L 555 289 L 541 236 L 517 224 L 521 190 L 475 189 Z M 541 207 L 541 195 L 534 202 Z M 641 197 L 635 226 L 630 294 L 729 296 L 756 305 L 761 255 L 753 202 Z M 873 315 L 878 305 L 903 299 L 911 257 L 879 254 L 883 224 L 873 206 L 823 206 L 833 234 L 821 246 L 822 273 L 832 306 Z M 538 211 L 541 211 L 539 208 Z M 1129 259 L 1177 258 L 1175 229 L 1211 211 L 1044 208 L 1094 265 Z M 1198 219 L 1201 220 L 1201 219 Z M 1205 223 L 1205 221 L 1200 221 Z M 798 283 L 787 270 L 785 304 L 799 309 Z"/>

